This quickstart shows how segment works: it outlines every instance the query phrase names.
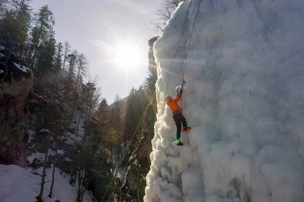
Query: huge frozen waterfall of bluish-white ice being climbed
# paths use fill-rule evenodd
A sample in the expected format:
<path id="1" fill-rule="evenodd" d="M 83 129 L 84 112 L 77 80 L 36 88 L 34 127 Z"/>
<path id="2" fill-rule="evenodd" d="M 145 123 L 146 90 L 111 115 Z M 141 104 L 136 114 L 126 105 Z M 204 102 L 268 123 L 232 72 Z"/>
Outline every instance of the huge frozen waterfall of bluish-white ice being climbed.
<path id="1" fill-rule="evenodd" d="M 187 15 L 189 4 L 154 47 L 159 113 L 144 201 L 304 201 L 304 1 L 192 0 Z M 170 72 L 174 95 L 198 9 L 182 99 L 192 131 L 177 147 L 166 73 L 194 12 Z"/>

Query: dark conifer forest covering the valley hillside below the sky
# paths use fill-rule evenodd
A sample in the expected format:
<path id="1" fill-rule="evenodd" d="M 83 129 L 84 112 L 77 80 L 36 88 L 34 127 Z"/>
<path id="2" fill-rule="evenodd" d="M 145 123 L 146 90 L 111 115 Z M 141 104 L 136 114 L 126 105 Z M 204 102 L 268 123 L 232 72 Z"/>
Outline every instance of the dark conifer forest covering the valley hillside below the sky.
<path id="1" fill-rule="evenodd" d="M 117 95 L 109 104 L 101 96 L 100 78 L 90 76 L 90 63 L 82 50 L 74 50 L 68 41 L 56 41 L 54 13 L 47 5 L 33 11 L 30 2 L 0 0 L 0 45 L 4 50 L 0 84 L 3 79 L 12 79 L 12 57 L 33 76 L 26 102 L 26 113 L 30 114 L 27 154 L 44 154 L 28 162 L 32 168 L 43 168 L 42 173 L 36 173 L 42 176 L 36 198 L 43 200 L 46 170 L 52 168 L 54 176 L 55 167 L 77 187 L 77 201 L 83 200 L 86 190 L 98 201 L 110 198 L 119 194 L 122 185 L 115 168 L 129 165 L 143 131 L 154 131 L 157 78 L 149 73 L 138 89 L 132 88 L 126 98 Z M 157 11 L 160 19 L 156 28 L 170 18 L 162 12 L 169 6 L 167 11 L 172 13 L 179 2 L 164 1 L 163 9 Z M 9 105 L 12 100 L 3 94 L 0 105 Z M 0 146 L 12 149 L 19 139 L 0 138 Z"/>

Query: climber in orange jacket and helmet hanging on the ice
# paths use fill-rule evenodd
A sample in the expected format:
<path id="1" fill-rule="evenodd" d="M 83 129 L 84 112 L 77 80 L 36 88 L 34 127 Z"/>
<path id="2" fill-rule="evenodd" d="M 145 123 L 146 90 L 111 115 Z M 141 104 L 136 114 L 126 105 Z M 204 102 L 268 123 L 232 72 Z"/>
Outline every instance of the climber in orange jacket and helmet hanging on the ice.
<path id="1" fill-rule="evenodd" d="M 170 95 L 166 96 L 166 101 L 167 101 L 167 105 L 170 107 L 171 111 L 172 111 L 172 117 L 173 120 L 176 124 L 176 144 L 178 146 L 182 146 L 183 143 L 180 141 L 180 131 L 181 131 L 181 124 L 183 126 L 183 130 L 182 132 L 186 132 L 186 131 L 190 131 L 191 127 L 187 127 L 187 122 L 185 117 L 182 115 L 181 113 L 181 109 L 180 106 L 177 104 L 177 102 L 180 100 L 181 98 L 181 94 L 182 94 L 182 88 L 179 91 L 178 96 L 173 99 L 173 97 L 171 97 Z"/>

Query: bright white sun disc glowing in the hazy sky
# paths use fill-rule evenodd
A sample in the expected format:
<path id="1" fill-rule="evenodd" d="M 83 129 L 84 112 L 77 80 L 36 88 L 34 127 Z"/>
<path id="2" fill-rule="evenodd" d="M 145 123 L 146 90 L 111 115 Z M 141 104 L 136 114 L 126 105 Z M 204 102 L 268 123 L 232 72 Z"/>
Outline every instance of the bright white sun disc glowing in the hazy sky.
<path id="1" fill-rule="evenodd" d="M 132 45 L 121 45 L 115 49 L 113 59 L 118 68 L 126 70 L 135 69 L 140 62 L 140 52 L 138 48 Z"/>

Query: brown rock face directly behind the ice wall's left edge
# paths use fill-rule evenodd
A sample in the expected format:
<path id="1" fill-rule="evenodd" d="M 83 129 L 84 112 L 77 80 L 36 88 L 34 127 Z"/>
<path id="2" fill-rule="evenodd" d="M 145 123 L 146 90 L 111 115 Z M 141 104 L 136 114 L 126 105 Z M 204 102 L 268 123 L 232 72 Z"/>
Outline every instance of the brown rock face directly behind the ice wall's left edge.
<path id="1" fill-rule="evenodd" d="M 149 40 L 149 70 L 153 76 L 157 77 L 156 62 L 154 57 L 153 46 L 159 36 Z M 153 106 L 155 114 L 157 113 L 156 96 L 154 96 Z M 147 117 L 146 117 L 147 118 Z M 151 121 L 151 120 L 147 120 Z M 126 180 L 121 188 L 120 201 L 143 201 L 145 195 L 146 180 L 145 176 L 150 170 L 150 153 L 152 152 L 151 140 L 154 138 L 154 125 L 142 131 L 141 139 L 136 150 L 130 158 L 130 166 L 126 173 Z"/>

